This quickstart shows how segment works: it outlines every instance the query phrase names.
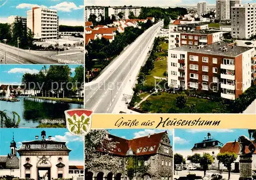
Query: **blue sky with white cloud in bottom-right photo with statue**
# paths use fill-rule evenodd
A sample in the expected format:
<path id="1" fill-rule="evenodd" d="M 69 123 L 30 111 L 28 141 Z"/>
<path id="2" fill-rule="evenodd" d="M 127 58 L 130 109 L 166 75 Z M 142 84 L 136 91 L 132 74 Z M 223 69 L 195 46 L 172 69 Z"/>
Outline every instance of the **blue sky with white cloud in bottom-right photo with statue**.
<path id="1" fill-rule="evenodd" d="M 174 151 L 183 156 L 191 155 L 191 148 L 195 143 L 199 143 L 207 137 L 207 133 L 225 145 L 227 142 L 238 141 L 238 137 L 244 135 L 248 137 L 248 129 L 175 129 Z"/>

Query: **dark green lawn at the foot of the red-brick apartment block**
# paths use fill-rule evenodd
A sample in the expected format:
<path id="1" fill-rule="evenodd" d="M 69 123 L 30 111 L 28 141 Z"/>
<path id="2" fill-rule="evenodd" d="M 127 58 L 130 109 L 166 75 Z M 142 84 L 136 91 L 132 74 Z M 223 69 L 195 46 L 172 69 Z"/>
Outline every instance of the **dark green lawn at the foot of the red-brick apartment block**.
<path id="1" fill-rule="evenodd" d="M 176 97 L 177 94 L 161 93 L 161 95 L 152 95 L 147 98 L 147 100 L 152 102 L 150 106 L 151 113 L 169 113 L 169 109 L 173 108 L 177 113 L 189 113 L 188 107 L 179 109 L 176 107 Z M 145 102 L 140 104 L 140 109 L 145 105 Z M 220 108 L 217 102 L 213 102 L 207 99 L 187 97 L 187 103 L 195 103 L 197 108 L 197 113 L 212 113 L 212 109 Z"/>

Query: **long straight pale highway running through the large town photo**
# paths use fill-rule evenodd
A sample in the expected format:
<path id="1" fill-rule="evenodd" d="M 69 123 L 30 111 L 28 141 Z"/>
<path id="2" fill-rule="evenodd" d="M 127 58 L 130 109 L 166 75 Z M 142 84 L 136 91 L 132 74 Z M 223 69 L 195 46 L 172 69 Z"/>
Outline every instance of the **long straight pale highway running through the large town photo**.
<path id="1" fill-rule="evenodd" d="M 131 76 L 138 74 L 137 66 L 143 63 L 145 52 L 150 50 L 161 25 L 162 21 L 146 30 L 95 81 L 85 84 L 86 109 L 94 113 L 112 113 L 119 97 L 123 96 L 124 87 L 133 83 Z"/>

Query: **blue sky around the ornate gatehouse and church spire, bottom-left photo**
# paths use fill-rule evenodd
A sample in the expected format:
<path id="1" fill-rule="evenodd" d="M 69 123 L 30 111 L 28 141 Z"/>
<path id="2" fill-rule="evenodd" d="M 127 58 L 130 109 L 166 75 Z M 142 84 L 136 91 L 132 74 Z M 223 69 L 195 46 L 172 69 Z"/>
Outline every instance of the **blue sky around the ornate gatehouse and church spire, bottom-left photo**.
<path id="1" fill-rule="evenodd" d="M 66 128 L 2 128 L 0 131 L 0 155 L 10 153 L 10 142 L 14 133 L 14 141 L 19 149 L 24 141 L 33 141 L 35 136 L 41 139 L 41 131 L 46 131 L 46 137 L 52 136 L 54 141 L 66 142 L 71 152 L 69 154 L 69 165 L 80 165 L 83 162 L 83 137 L 73 136 Z M 28 133 L 29 132 L 29 133 Z M 17 153 L 18 154 L 18 153 Z"/>

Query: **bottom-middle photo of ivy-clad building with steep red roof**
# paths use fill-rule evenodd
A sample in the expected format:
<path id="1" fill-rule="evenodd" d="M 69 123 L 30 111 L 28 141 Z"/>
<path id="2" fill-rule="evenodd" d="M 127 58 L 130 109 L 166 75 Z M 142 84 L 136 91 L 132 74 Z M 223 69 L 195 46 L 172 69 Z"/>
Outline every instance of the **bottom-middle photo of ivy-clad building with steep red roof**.
<path id="1" fill-rule="evenodd" d="M 91 129 L 85 178 L 173 179 L 173 129 Z"/>

